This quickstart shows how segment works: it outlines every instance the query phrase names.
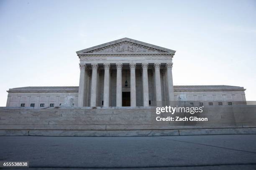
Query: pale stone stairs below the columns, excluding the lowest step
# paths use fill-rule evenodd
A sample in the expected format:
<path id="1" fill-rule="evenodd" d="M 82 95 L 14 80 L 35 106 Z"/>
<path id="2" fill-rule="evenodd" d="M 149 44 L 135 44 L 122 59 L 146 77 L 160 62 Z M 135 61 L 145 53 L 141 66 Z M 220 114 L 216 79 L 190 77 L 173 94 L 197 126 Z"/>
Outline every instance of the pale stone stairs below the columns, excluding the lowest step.
<path id="1" fill-rule="evenodd" d="M 207 122 L 156 121 L 156 117 L 207 117 Z M 162 112 L 156 107 L 0 107 L 0 130 L 160 130 L 255 127 L 256 105 L 207 107 L 202 113 Z"/>

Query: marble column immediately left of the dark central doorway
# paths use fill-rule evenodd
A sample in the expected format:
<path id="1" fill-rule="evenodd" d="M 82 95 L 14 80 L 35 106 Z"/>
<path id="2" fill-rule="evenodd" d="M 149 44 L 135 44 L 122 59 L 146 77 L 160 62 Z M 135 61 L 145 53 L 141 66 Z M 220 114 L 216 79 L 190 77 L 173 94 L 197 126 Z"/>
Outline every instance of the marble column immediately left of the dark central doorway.
<path id="1" fill-rule="evenodd" d="M 116 63 L 116 106 L 122 106 L 122 63 Z"/>

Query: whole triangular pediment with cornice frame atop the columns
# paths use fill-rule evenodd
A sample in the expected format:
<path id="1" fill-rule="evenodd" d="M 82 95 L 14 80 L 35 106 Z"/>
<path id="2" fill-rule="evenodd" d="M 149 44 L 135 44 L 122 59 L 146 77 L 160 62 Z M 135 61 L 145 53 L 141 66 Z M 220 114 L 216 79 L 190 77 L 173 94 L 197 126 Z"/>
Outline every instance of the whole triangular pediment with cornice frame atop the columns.
<path id="1" fill-rule="evenodd" d="M 95 47 L 90 47 L 84 50 L 77 51 L 77 54 L 88 53 L 171 53 L 174 50 L 151 45 L 146 42 L 132 40 L 130 38 L 123 38 L 115 40 Z"/>

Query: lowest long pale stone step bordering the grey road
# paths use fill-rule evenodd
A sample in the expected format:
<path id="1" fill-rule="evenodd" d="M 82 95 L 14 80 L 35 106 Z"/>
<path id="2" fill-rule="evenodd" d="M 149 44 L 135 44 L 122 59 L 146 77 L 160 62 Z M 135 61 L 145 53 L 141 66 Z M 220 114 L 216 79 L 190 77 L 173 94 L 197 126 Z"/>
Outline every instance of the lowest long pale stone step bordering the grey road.
<path id="1" fill-rule="evenodd" d="M 174 136 L 256 134 L 256 128 L 175 130 L 0 130 L 0 136 Z"/>

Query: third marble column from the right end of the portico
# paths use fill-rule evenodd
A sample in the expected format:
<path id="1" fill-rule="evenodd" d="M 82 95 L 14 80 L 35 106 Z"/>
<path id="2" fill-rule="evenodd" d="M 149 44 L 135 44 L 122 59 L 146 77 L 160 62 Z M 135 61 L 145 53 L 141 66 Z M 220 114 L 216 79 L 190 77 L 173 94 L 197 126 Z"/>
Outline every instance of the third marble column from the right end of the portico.
<path id="1" fill-rule="evenodd" d="M 148 106 L 148 63 L 142 63 L 143 106 Z"/>

